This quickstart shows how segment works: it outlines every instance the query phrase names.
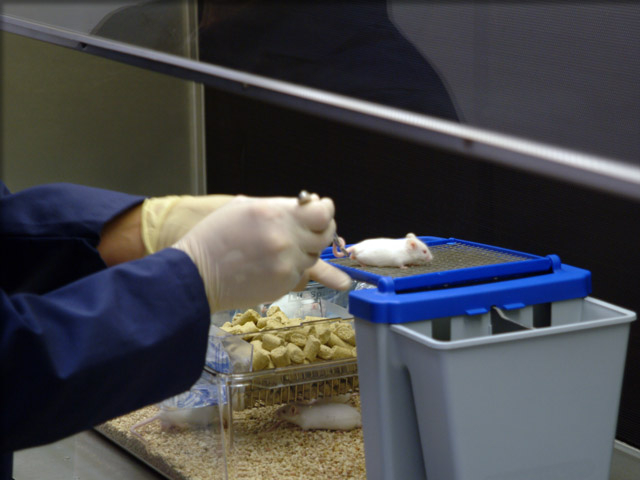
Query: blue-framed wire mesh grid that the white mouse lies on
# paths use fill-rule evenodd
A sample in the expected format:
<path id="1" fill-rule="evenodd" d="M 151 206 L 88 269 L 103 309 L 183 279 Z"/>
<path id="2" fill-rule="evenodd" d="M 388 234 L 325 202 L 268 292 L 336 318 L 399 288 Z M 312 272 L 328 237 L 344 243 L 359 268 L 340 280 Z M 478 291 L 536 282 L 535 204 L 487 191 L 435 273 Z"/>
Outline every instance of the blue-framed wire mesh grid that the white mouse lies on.
<path id="1" fill-rule="evenodd" d="M 536 274 L 552 268 L 551 259 L 455 238 L 419 237 L 427 243 L 433 260 L 408 268 L 362 266 L 350 258 L 326 258 L 352 278 L 377 285 L 384 291 L 448 287 L 462 283 L 494 281 Z"/>

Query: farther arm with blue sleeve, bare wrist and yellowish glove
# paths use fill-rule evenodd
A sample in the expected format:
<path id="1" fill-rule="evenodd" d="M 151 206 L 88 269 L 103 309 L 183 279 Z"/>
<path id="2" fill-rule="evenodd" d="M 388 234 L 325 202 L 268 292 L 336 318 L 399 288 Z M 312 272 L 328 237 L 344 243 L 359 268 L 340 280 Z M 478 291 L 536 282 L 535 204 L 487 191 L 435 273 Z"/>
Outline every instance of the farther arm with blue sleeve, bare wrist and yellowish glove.
<path id="1" fill-rule="evenodd" d="M 171 246 L 232 195 L 139 195 L 69 183 L 11 194 L 0 182 L 0 259 L 9 291 L 44 293 Z M 28 244 L 28 249 L 26 248 Z M 11 251 L 19 246 L 33 262 Z M 37 261 L 36 261 L 37 259 Z M 15 262 L 19 262 L 16 264 Z"/>

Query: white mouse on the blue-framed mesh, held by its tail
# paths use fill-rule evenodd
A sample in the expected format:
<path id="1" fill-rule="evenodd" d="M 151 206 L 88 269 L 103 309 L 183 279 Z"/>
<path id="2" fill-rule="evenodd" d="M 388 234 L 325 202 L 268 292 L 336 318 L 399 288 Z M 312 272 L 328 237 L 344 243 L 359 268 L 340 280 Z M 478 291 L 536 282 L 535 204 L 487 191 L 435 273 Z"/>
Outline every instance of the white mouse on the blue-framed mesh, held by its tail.
<path id="1" fill-rule="evenodd" d="M 344 240 L 341 239 L 341 243 Z M 370 267 L 400 267 L 409 265 L 425 265 L 433 260 L 429 247 L 413 233 L 405 238 L 371 238 L 347 247 L 345 251 L 349 258 L 360 265 Z M 336 257 L 344 256 L 334 246 Z"/>

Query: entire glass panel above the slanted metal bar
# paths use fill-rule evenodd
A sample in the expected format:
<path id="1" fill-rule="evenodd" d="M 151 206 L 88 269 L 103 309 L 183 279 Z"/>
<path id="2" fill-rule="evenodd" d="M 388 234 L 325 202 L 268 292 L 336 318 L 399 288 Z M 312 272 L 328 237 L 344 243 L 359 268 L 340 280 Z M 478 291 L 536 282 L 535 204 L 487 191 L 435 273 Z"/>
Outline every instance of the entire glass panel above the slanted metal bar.
<path id="1" fill-rule="evenodd" d="M 637 2 L 7 2 L 4 13 L 640 162 Z"/>

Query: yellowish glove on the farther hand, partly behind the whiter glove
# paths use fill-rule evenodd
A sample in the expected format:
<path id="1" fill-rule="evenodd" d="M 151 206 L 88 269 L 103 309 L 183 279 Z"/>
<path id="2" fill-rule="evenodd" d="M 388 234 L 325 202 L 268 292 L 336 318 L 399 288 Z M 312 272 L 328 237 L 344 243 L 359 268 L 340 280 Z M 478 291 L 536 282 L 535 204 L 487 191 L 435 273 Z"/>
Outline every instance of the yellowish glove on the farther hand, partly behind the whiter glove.
<path id="1" fill-rule="evenodd" d="M 170 247 L 211 212 L 234 195 L 169 195 L 146 199 L 142 204 L 142 242 L 146 253 Z"/>

